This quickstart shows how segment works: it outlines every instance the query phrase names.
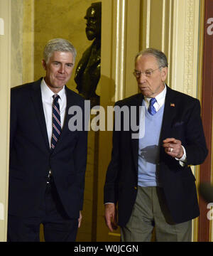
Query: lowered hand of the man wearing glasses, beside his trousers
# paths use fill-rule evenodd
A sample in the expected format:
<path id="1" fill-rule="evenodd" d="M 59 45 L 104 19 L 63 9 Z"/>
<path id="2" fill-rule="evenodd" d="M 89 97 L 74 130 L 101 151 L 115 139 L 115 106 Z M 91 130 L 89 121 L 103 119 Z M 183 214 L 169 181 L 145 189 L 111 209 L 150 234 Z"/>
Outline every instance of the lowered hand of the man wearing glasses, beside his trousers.
<path id="1" fill-rule="evenodd" d="M 118 228 L 117 226 L 117 210 L 114 203 L 105 204 L 105 221 L 106 225 L 111 232 Z"/>

